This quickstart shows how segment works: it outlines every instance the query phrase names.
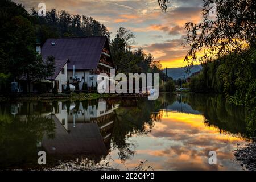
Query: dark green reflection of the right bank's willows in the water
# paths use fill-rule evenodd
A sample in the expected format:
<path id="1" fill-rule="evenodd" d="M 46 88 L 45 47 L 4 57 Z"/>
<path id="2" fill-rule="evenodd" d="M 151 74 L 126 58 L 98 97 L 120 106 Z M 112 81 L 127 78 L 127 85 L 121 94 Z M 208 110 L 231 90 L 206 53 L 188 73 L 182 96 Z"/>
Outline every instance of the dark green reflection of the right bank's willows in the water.
<path id="1" fill-rule="evenodd" d="M 190 94 L 188 104 L 204 115 L 204 122 L 232 134 L 247 135 L 245 109 L 225 102 L 224 96 Z"/>

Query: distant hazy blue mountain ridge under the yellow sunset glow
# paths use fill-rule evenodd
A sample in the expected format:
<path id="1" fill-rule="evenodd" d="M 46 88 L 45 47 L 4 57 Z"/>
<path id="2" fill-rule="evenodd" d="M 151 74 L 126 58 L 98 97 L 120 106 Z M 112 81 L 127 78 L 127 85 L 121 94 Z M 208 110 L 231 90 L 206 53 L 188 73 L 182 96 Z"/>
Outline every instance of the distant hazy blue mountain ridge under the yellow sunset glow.
<path id="1" fill-rule="evenodd" d="M 198 72 L 202 69 L 200 65 L 193 65 L 193 67 L 190 69 L 190 73 L 185 73 L 185 67 L 180 67 L 180 68 L 167 68 L 167 75 L 172 77 L 174 80 L 178 80 L 180 78 L 180 73 L 182 75 L 182 78 L 189 77 L 192 75 L 192 73 Z M 164 73 L 166 73 L 166 68 L 163 70 Z"/>

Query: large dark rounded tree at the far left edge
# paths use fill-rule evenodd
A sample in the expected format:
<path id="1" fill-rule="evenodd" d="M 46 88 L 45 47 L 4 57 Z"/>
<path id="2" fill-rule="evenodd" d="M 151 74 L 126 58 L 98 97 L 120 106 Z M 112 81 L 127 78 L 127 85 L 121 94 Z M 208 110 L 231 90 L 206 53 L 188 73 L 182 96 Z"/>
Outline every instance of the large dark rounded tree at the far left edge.
<path id="1" fill-rule="evenodd" d="M 31 22 L 23 16 L 14 16 L 2 24 L 2 42 L 0 48 L 7 55 L 1 65 L 1 72 L 11 73 L 15 78 L 24 74 L 27 65 L 33 65 L 37 57 L 35 53 L 35 31 Z M 33 65 L 34 66 L 34 65 Z"/>

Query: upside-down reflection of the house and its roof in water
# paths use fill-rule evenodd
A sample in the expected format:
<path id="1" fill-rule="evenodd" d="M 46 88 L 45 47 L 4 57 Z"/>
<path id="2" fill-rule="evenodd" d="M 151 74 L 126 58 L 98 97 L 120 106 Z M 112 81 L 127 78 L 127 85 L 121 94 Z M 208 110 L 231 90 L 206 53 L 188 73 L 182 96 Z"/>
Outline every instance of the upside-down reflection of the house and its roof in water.
<path id="1" fill-rule="evenodd" d="M 53 108 L 55 137 L 42 139 L 42 147 L 48 154 L 108 154 L 117 104 L 100 99 L 58 102 Z"/>

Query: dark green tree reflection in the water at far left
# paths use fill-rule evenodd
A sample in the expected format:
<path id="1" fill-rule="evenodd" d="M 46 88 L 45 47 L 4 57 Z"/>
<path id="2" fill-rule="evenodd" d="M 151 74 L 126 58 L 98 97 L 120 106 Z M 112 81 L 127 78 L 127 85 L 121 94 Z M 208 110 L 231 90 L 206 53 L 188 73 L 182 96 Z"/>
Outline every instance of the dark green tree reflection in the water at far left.
<path id="1" fill-rule="evenodd" d="M 44 134 L 54 132 L 54 123 L 39 114 L 14 117 L 9 105 L 5 106 L 5 110 L 0 111 L 1 168 L 11 163 L 37 162 L 36 144 Z"/>

